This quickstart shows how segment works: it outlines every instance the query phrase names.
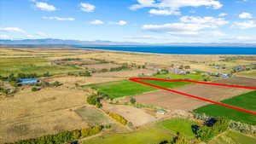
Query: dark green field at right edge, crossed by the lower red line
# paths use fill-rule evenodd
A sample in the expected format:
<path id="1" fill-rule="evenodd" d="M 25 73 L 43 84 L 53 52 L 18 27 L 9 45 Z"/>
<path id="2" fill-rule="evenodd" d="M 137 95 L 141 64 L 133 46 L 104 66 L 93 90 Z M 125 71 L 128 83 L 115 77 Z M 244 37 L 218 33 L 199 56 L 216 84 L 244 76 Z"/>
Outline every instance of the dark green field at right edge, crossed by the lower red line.
<path id="1" fill-rule="evenodd" d="M 221 101 L 225 104 L 241 107 L 253 112 L 256 112 L 256 91 L 252 91 L 243 95 L 237 95 L 233 98 Z M 199 107 L 194 110 L 197 113 L 206 113 L 214 117 L 230 118 L 242 123 L 256 125 L 256 116 L 250 113 L 237 111 L 228 107 L 211 104 L 204 107 Z"/>

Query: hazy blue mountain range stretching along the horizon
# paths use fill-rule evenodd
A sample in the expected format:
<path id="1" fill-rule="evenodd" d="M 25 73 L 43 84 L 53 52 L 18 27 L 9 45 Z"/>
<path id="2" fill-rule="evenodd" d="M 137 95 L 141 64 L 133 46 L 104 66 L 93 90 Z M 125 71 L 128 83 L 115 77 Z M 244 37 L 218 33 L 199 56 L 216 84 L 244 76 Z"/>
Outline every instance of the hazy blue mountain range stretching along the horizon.
<path id="1" fill-rule="evenodd" d="M 112 42 L 112 41 L 80 41 L 80 40 L 64 40 L 54 38 L 44 39 L 22 39 L 22 40 L 5 40 L 0 39 L 0 45 L 15 45 L 15 46 L 101 46 L 101 45 L 152 45 L 152 46 L 228 46 L 228 47 L 254 47 L 256 43 L 136 43 L 136 42 Z"/>

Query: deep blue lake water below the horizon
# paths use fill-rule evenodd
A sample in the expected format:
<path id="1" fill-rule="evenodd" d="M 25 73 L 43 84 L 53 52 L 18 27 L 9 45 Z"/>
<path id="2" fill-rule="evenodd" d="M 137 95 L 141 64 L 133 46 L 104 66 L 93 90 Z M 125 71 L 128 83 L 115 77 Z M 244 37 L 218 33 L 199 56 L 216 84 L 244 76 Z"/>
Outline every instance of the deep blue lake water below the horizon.
<path id="1" fill-rule="evenodd" d="M 256 47 L 187 47 L 187 46 L 96 46 L 79 47 L 118 51 L 184 55 L 256 55 Z"/>

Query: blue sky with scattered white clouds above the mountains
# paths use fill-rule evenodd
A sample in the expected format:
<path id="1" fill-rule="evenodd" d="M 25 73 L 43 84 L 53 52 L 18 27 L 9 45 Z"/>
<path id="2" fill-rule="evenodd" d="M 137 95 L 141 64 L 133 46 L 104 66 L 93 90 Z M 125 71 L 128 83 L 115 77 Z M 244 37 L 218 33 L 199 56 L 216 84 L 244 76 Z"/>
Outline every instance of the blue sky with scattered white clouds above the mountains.
<path id="1" fill-rule="evenodd" d="M 256 43 L 256 0 L 0 0 L 0 39 Z"/>

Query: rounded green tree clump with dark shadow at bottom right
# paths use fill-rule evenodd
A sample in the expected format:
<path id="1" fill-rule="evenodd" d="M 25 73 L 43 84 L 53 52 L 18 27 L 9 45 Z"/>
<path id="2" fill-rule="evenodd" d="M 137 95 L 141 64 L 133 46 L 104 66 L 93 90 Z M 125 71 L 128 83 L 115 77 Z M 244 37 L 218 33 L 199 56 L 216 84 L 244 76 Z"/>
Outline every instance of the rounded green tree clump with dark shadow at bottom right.
<path id="1" fill-rule="evenodd" d="M 230 120 L 225 118 L 209 118 L 201 127 L 192 125 L 192 131 L 196 137 L 201 141 L 210 141 L 212 137 L 228 130 Z"/>

